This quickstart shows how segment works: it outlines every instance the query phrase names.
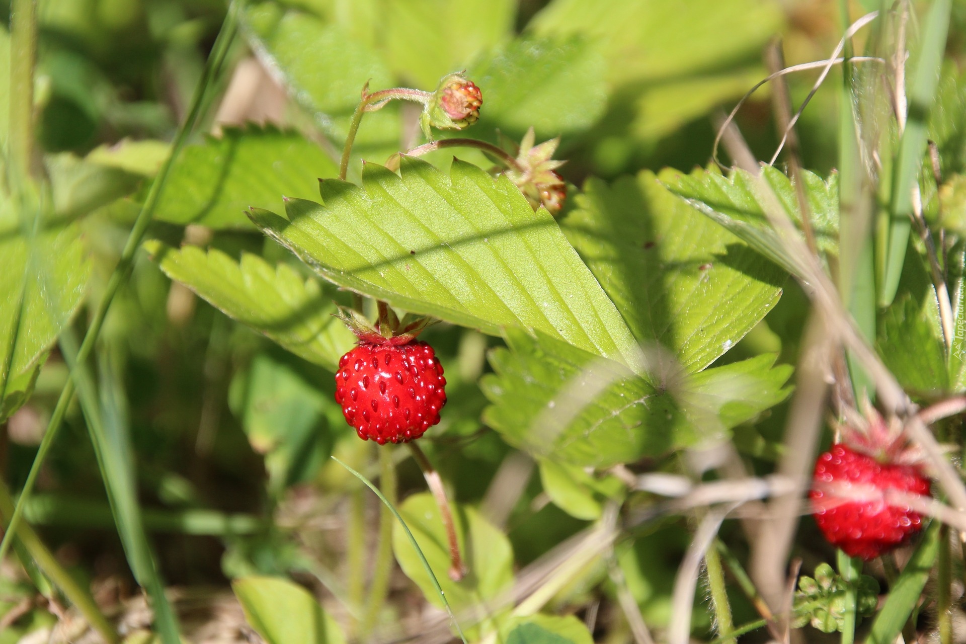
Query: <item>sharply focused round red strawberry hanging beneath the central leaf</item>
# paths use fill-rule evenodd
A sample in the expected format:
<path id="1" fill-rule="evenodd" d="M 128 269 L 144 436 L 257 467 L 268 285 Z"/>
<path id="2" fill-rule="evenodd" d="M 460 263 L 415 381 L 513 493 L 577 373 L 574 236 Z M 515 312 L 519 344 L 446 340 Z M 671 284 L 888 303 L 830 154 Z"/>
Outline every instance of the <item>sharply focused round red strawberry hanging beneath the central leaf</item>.
<path id="1" fill-rule="evenodd" d="M 363 440 L 408 442 L 440 422 L 445 386 L 440 360 L 425 342 L 369 336 L 339 360 L 335 402 Z"/>

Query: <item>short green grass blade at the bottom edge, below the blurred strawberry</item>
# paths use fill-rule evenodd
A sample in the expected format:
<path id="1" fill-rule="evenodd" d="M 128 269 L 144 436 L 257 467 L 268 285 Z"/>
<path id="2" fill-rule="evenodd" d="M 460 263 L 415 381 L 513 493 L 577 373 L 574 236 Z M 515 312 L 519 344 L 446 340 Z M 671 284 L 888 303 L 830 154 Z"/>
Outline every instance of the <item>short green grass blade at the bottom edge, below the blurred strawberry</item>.
<path id="1" fill-rule="evenodd" d="M 913 553 L 909 563 L 895 586 L 889 589 L 889 597 L 875 616 L 866 644 L 892 644 L 902 631 L 902 626 L 919 604 L 929 571 L 939 553 L 939 521 L 933 521 L 923 535 L 923 541 Z"/>

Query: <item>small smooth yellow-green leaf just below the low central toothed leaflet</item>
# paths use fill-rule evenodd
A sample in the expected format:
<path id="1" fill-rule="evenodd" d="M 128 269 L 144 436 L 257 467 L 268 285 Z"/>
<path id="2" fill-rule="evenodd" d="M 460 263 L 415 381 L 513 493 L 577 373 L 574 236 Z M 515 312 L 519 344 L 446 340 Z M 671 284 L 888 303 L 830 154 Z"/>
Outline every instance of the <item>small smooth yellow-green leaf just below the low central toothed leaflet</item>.
<path id="1" fill-rule="evenodd" d="M 596 479 L 578 465 L 540 461 L 540 483 L 554 504 L 574 518 L 600 518 L 603 503 L 621 495 L 620 479 L 607 476 Z"/>

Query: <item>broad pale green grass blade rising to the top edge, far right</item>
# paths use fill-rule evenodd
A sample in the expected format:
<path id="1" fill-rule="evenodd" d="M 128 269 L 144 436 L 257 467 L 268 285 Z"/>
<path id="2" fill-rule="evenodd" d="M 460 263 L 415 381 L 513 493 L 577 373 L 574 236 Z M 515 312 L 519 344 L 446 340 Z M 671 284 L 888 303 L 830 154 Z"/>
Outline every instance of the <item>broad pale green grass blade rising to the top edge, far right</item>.
<path id="1" fill-rule="evenodd" d="M 935 0 L 923 21 L 922 49 L 915 77 L 909 87 L 909 116 L 899 139 L 893 170 L 893 189 L 889 204 L 889 242 L 886 249 L 885 275 L 879 292 L 879 305 L 888 306 L 895 298 L 909 231 L 912 226 L 912 188 L 919 181 L 925 152 L 926 126 L 939 83 L 946 37 L 950 27 L 952 0 Z"/>

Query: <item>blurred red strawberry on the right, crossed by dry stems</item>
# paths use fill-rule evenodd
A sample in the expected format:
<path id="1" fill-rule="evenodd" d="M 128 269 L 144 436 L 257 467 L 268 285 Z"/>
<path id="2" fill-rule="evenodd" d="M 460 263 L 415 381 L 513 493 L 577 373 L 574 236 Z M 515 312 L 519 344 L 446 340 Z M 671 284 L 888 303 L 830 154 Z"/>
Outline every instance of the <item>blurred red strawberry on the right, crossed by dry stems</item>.
<path id="1" fill-rule="evenodd" d="M 876 421 L 881 424 L 881 418 L 873 418 L 873 426 Z M 874 559 L 922 528 L 920 515 L 890 505 L 887 492 L 928 495 L 929 489 L 929 480 L 916 464 L 880 462 L 837 444 L 815 463 L 812 516 L 830 544 L 849 556 Z"/>

